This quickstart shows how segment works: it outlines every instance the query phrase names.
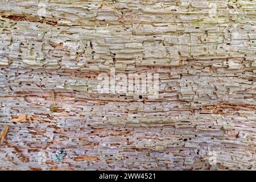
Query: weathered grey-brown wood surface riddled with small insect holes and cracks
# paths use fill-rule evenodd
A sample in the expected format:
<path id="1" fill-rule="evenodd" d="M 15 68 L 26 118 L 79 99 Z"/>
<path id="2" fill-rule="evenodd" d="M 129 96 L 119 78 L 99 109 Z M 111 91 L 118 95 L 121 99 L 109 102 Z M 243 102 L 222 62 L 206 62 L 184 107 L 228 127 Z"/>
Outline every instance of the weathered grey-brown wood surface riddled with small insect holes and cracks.
<path id="1" fill-rule="evenodd" d="M 0 169 L 256 169 L 255 10 L 1 0 Z M 98 93 L 113 67 L 159 97 Z"/>

